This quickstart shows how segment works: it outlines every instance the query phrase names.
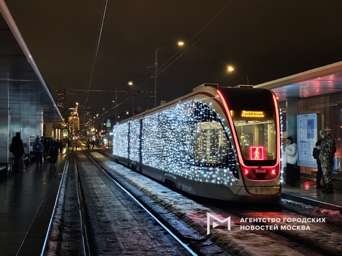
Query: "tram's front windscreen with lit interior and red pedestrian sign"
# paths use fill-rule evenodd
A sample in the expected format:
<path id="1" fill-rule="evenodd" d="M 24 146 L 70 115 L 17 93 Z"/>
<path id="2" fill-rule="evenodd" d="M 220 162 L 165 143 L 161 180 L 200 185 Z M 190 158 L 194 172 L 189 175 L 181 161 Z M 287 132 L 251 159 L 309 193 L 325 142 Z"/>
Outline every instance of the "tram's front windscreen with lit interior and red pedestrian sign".
<path id="1" fill-rule="evenodd" d="M 274 120 L 241 120 L 234 118 L 242 157 L 246 160 L 274 160 L 276 131 Z"/>

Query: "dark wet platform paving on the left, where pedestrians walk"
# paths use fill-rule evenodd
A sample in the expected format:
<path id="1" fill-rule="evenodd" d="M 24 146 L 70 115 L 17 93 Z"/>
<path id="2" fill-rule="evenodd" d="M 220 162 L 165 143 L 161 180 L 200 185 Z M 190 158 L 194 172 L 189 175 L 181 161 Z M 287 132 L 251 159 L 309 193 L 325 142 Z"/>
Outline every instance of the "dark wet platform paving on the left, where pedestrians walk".
<path id="1" fill-rule="evenodd" d="M 24 173 L 0 177 L 0 255 L 41 255 L 65 167 L 31 161 Z"/>

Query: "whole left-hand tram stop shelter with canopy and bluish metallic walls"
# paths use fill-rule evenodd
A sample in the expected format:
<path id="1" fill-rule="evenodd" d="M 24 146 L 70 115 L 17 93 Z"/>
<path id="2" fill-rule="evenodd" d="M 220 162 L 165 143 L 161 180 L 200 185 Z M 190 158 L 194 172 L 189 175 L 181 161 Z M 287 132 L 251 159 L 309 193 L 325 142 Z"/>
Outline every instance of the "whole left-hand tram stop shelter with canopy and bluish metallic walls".
<path id="1" fill-rule="evenodd" d="M 29 157 L 43 123 L 64 122 L 50 89 L 20 34 L 4 1 L 0 1 L 0 173 L 7 175 L 16 132 L 22 133 Z"/>

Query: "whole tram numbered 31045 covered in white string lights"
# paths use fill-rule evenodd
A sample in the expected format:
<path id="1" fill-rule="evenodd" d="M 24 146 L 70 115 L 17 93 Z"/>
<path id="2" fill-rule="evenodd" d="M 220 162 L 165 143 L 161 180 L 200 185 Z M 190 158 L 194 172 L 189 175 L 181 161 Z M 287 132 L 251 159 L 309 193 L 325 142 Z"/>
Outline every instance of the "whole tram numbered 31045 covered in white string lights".
<path id="1" fill-rule="evenodd" d="M 208 198 L 280 200 L 280 153 L 269 89 L 202 84 L 113 127 L 115 161 Z"/>

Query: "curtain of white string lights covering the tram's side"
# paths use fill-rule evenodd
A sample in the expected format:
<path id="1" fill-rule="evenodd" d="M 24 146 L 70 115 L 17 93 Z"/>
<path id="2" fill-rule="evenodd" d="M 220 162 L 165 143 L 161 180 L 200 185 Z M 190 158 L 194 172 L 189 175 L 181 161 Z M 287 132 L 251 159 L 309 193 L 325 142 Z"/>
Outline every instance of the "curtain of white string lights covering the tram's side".
<path id="1" fill-rule="evenodd" d="M 114 155 L 139 161 L 140 119 L 114 126 Z M 181 102 L 142 119 L 143 165 L 200 182 L 238 181 L 230 129 L 212 105 Z"/>

